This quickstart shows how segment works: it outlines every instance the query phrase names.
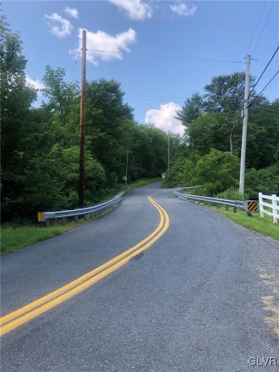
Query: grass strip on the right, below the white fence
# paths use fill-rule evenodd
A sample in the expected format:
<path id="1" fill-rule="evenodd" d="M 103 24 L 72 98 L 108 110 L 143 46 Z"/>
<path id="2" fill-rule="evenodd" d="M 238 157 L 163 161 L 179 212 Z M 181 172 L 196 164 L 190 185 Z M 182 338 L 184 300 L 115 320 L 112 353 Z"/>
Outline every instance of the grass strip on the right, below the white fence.
<path id="1" fill-rule="evenodd" d="M 260 213 L 252 213 L 252 217 L 248 217 L 247 213 L 243 210 L 237 209 L 237 212 L 233 213 L 233 210 L 226 211 L 224 206 L 220 206 L 219 209 L 217 207 L 209 208 L 224 214 L 238 225 L 279 240 L 279 224 L 273 223 L 272 217 L 260 217 Z"/>

